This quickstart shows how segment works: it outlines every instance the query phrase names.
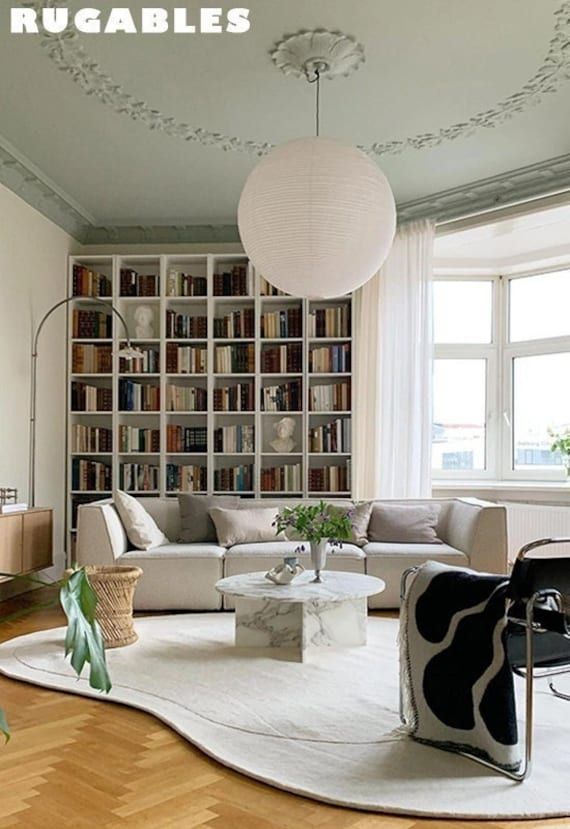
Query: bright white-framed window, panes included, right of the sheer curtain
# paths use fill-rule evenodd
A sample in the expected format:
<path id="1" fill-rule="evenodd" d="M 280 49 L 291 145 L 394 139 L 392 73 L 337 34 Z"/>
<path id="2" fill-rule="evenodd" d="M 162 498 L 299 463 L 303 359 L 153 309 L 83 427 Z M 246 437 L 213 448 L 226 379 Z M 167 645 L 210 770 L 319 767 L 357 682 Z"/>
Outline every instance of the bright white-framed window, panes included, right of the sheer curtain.
<path id="1" fill-rule="evenodd" d="M 434 282 L 433 475 L 562 480 L 570 269 Z"/>

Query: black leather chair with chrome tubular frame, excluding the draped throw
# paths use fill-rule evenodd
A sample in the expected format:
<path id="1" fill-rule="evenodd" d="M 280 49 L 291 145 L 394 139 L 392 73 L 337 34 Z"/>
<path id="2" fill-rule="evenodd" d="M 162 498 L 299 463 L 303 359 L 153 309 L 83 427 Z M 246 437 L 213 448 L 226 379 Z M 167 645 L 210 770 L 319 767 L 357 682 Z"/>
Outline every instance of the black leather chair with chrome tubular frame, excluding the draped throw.
<path id="1" fill-rule="evenodd" d="M 507 655 L 514 673 L 526 683 L 522 768 L 506 771 L 468 752 L 458 752 L 518 782 L 528 777 L 532 767 L 534 680 L 570 672 L 570 556 L 529 555 L 550 544 L 570 544 L 570 538 L 541 538 L 522 547 L 507 592 Z M 408 576 L 417 569 L 413 567 L 402 576 L 402 598 Z M 570 701 L 570 695 L 559 691 L 552 679 L 549 687 L 557 697 Z"/>

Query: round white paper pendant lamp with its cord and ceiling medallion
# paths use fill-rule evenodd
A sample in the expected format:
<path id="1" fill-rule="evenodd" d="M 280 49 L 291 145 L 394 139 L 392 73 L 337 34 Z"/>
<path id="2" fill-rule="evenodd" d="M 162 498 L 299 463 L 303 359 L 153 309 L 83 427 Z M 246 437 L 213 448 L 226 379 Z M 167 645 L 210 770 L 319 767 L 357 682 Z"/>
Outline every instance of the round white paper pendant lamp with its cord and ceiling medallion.
<path id="1" fill-rule="evenodd" d="M 319 135 L 321 79 L 350 74 L 364 50 L 339 32 L 303 32 L 272 57 L 286 74 L 315 84 L 317 134 L 277 147 L 252 171 L 238 208 L 242 243 L 257 271 L 282 291 L 342 296 L 380 269 L 396 231 L 394 196 L 377 164 Z"/>

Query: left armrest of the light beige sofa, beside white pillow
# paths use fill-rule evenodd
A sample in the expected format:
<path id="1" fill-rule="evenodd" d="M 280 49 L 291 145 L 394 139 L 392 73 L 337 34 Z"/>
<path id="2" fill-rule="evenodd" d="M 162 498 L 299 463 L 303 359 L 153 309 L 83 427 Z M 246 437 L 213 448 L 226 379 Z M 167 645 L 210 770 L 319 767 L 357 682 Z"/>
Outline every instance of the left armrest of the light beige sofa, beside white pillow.
<path id="1" fill-rule="evenodd" d="M 83 504 L 78 510 L 77 563 L 114 564 L 129 549 L 127 534 L 110 501 Z"/>

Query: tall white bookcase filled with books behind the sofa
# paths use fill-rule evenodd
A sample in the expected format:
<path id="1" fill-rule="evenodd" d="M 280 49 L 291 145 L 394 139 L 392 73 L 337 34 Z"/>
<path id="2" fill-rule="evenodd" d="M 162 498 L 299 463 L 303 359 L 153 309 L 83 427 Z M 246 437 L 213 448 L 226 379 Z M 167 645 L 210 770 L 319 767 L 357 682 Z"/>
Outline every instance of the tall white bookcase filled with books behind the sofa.
<path id="1" fill-rule="evenodd" d="M 262 499 L 350 496 L 312 486 L 322 485 L 329 467 L 342 476 L 332 478 L 334 486 L 350 480 L 344 477 L 351 461 L 350 424 L 335 422 L 352 418 L 352 374 L 311 371 L 329 365 L 354 369 L 338 357 L 352 352 L 354 358 L 350 296 L 309 300 L 275 294 L 240 253 L 71 257 L 68 284 L 75 298 L 68 321 L 73 372 L 68 375 L 69 531 L 77 526 L 79 504 L 108 498 L 123 484 L 141 497 L 175 498 L 180 492 Z M 232 291 L 236 295 L 229 295 Z M 125 332 L 109 310 L 92 301 L 99 298 L 92 292 L 125 315 L 133 334 L 136 308 L 152 308 L 152 336 L 131 340 L 144 352 L 138 363 L 118 356 Z M 315 362 L 327 351 L 334 363 Z M 76 387 L 72 398 L 72 384 L 91 390 Z M 98 408 L 75 408 L 85 400 Z M 145 405 L 153 408 L 139 408 Z M 295 422 L 290 453 L 271 447 L 274 427 L 283 418 Z M 346 444 L 315 442 L 321 435 L 334 441 L 333 428 L 343 440 L 346 431 Z M 348 451 L 311 451 L 331 445 Z M 89 451 L 76 451 L 81 447 Z M 74 461 L 76 473 L 80 461 L 85 462 L 82 470 L 110 468 L 111 480 L 73 480 Z M 140 489 L 143 473 L 144 487 L 151 489 Z M 270 488 L 272 480 L 286 487 Z M 105 489 L 75 490 L 77 483 L 104 484 Z M 324 483 L 328 489 L 328 478 Z"/>

